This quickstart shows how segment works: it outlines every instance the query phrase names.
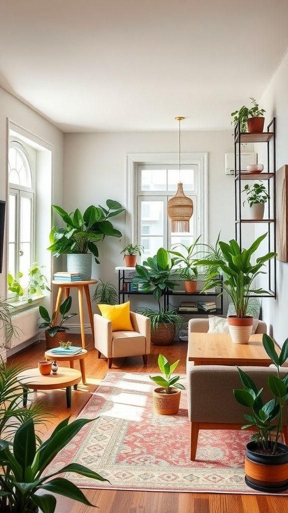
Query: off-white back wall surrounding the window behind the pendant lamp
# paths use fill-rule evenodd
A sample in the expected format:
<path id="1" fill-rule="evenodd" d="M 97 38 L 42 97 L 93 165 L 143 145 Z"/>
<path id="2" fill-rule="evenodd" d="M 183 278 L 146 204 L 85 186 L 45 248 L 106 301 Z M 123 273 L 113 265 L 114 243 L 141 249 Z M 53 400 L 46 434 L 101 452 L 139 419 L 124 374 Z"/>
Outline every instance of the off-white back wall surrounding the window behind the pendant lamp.
<path id="1" fill-rule="evenodd" d="M 181 132 L 181 153 L 208 152 L 209 242 L 234 238 L 234 177 L 225 175 L 224 155 L 234 151 L 232 131 Z M 129 132 L 65 134 L 64 208 L 69 212 L 89 205 L 104 205 L 107 199 L 126 207 L 126 153 L 178 154 L 176 132 Z M 115 227 L 125 233 L 125 215 L 113 218 Z M 122 265 L 125 240 L 107 238 L 100 242 L 100 264 L 94 264 L 93 278 L 117 285 L 115 267 Z M 91 287 L 91 294 L 93 289 Z M 92 305 L 93 306 L 93 305 Z M 75 318 L 76 319 L 76 318 Z"/>

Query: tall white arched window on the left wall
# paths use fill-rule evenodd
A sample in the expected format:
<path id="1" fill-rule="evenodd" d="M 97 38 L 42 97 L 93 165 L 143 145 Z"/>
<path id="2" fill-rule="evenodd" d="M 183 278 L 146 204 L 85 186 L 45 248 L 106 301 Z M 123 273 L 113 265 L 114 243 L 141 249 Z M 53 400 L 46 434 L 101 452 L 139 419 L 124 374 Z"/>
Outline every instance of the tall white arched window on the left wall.
<path id="1" fill-rule="evenodd" d="M 35 184 L 31 156 L 30 148 L 28 152 L 24 144 L 10 141 L 8 272 L 16 280 L 23 273 L 22 286 L 28 283 L 28 270 L 34 260 Z"/>

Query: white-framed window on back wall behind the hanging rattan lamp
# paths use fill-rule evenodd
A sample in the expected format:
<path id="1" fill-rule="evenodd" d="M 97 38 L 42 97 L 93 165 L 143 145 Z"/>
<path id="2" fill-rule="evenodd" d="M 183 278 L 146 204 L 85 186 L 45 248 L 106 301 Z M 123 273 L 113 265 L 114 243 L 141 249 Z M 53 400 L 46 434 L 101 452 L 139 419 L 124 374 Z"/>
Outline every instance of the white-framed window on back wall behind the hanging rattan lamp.
<path id="1" fill-rule="evenodd" d="M 181 159 L 185 163 L 181 165 L 180 174 L 176 154 L 141 155 L 141 162 L 139 156 L 127 156 L 127 206 L 129 209 L 130 198 L 134 213 L 127 239 L 144 247 L 142 261 L 153 257 L 159 247 L 190 245 L 200 234 L 201 242 L 207 242 L 207 154 L 186 154 Z M 179 181 L 194 205 L 188 233 L 172 233 L 167 213 L 168 201 L 175 195 Z"/>

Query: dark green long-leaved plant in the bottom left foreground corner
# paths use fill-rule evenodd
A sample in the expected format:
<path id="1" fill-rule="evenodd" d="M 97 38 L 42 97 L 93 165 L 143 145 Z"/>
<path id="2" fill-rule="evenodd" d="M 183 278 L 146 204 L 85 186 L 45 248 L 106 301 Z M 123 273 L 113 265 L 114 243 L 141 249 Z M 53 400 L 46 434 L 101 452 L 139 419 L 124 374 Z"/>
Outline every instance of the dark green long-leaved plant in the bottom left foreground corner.
<path id="1" fill-rule="evenodd" d="M 80 429 L 94 419 L 76 419 L 68 424 L 70 417 L 60 422 L 51 437 L 37 447 L 32 419 L 22 424 L 15 433 L 13 446 L 0 440 L 0 510 L 5 513 L 54 513 L 59 494 L 93 506 L 83 492 L 70 480 L 58 475 L 75 472 L 98 481 L 107 481 L 98 473 L 78 463 L 70 463 L 45 476 L 43 473 L 57 453 L 65 447 Z M 38 495 L 38 490 L 45 494 Z"/>

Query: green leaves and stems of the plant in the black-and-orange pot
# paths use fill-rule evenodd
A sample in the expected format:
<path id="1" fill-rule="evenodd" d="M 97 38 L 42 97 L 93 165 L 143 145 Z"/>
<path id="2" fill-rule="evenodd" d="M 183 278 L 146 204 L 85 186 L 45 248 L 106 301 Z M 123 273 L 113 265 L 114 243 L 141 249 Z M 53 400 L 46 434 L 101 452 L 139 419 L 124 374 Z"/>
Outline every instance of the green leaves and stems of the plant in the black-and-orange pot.
<path id="1" fill-rule="evenodd" d="M 252 440 L 256 441 L 265 452 L 271 451 L 274 454 L 282 431 L 283 407 L 288 399 L 288 373 L 282 379 L 279 373 L 281 365 L 288 358 L 288 339 L 285 340 L 279 356 L 275 351 L 273 340 L 266 333 L 263 334 L 262 342 L 277 369 L 277 376 L 269 374 L 268 377 L 268 387 L 274 399 L 264 404 L 261 398 L 263 389 L 258 390 L 250 376 L 239 367 L 237 369 L 243 389 L 234 389 L 233 393 L 238 403 L 251 409 L 251 414 L 244 414 L 249 424 L 242 426 L 242 429 L 255 427 L 257 433 L 253 435 Z M 272 431 L 276 431 L 274 440 Z"/>

